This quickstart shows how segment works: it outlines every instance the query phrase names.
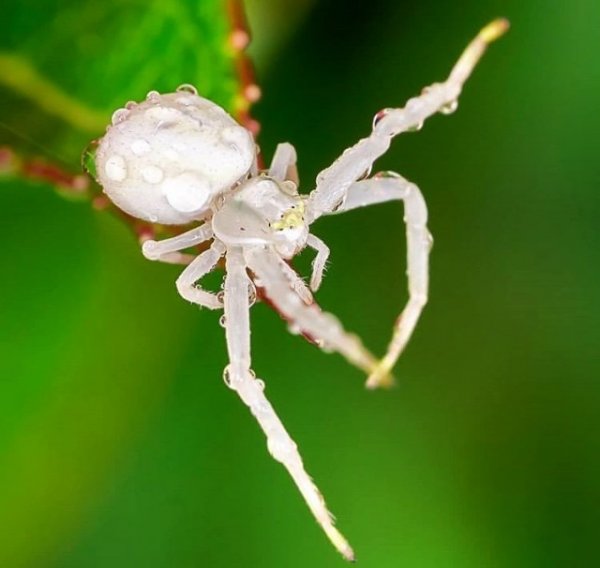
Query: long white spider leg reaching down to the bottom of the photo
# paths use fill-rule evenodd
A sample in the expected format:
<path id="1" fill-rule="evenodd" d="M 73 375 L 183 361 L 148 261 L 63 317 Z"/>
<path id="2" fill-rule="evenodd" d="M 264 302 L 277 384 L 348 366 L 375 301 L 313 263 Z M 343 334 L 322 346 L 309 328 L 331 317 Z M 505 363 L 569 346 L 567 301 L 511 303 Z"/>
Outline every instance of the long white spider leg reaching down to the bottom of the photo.
<path id="1" fill-rule="evenodd" d="M 250 301 L 248 298 L 251 281 L 246 272 L 242 249 L 230 248 L 227 251 L 225 263 L 227 273 L 224 296 L 225 335 L 230 361 L 225 369 L 225 381 L 250 408 L 267 436 L 269 453 L 288 470 L 325 534 L 344 558 L 354 560 L 352 548 L 335 528 L 323 496 L 304 470 L 302 458 L 295 442 L 265 397 L 264 383 L 256 379 L 251 370 Z"/>

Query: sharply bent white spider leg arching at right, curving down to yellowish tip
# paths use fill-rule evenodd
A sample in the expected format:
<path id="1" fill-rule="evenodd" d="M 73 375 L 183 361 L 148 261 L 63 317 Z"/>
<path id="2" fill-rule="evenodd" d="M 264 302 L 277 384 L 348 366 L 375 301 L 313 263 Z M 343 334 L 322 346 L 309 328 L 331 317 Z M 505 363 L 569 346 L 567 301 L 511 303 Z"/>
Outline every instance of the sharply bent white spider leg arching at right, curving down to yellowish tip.
<path id="1" fill-rule="evenodd" d="M 429 251 L 433 239 L 427 229 L 427 206 L 419 188 L 402 176 L 388 172 L 372 179 L 352 184 L 341 206 L 335 211 L 342 213 L 374 203 L 402 200 L 406 223 L 406 246 L 409 299 L 396 320 L 387 352 L 377 368 L 370 374 L 367 387 L 376 388 L 385 383 L 392 367 L 400 357 L 423 307 L 427 303 L 429 288 Z"/>

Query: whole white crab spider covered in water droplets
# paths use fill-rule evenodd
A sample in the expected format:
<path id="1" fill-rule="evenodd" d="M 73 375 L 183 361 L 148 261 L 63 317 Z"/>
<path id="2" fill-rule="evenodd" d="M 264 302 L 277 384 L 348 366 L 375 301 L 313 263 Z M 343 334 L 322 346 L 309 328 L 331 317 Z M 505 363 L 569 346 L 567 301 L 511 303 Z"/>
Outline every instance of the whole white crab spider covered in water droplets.
<path id="1" fill-rule="evenodd" d="M 99 181 L 118 207 L 156 223 L 201 222 L 179 236 L 144 242 L 143 254 L 150 260 L 188 264 L 177 280 L 181 296 L 209 309 L 224 309 L 229 353 L 225 381 L 250 408 L 266 434 L 269 452 L 287 468 L 331 542 L 349 560 L 354 558 L 350 545 L 334 527 L 296 444 L 265 398 L 264 383 L 251 369 L 249 311 L 255 286 L 294 328 L 366 371 L 368 387 L 390 381 L 389 373 L 427 301 L 431 236 L 425 201 L 414 183 L 391 173 L 362 178 L 394 136 L 418 130 L 431 115 L 456 108 L 462 85 L 487 44 L 507 27 L 505 20 L 492 22 L 467 47 L 445 82 L 424 89 L 404 108 L 378 113 L 371 134 L 323 170 L 308 195 L 298 193 L 291 144 L 279 144 L 270 168 L 259 171 L 251 133 L 189 86 L 164 95 L 151 92 L 146 101 L 118 110 L 98 147 Z M 410 297 L 387 353 L 378 361 L 358 337 L 313 303 L 311 290 L 321 284 L 329 249 L 309 227 L 323 215 L 391 200 L 404 202 Z M 210 247 L 196 257 L 180 252 L 209 240 Z M 287 262 L 307 246 L 316 251 L 310 290 Z M 223 292 L 198 287 L 223 256 Z"/>

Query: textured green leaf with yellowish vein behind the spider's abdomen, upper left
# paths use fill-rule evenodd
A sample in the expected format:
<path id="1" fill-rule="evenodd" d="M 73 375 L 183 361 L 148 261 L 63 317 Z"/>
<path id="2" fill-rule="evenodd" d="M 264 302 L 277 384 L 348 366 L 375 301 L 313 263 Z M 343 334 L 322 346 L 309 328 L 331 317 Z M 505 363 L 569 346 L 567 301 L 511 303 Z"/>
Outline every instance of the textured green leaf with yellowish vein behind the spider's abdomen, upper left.
<path id="1" fill-rule="evenodd" d="M 233 111 L 226 0 L 9 0 L 0 34 L 0 145 L 67 169 L 112 112 L 192 83 Z"/>

